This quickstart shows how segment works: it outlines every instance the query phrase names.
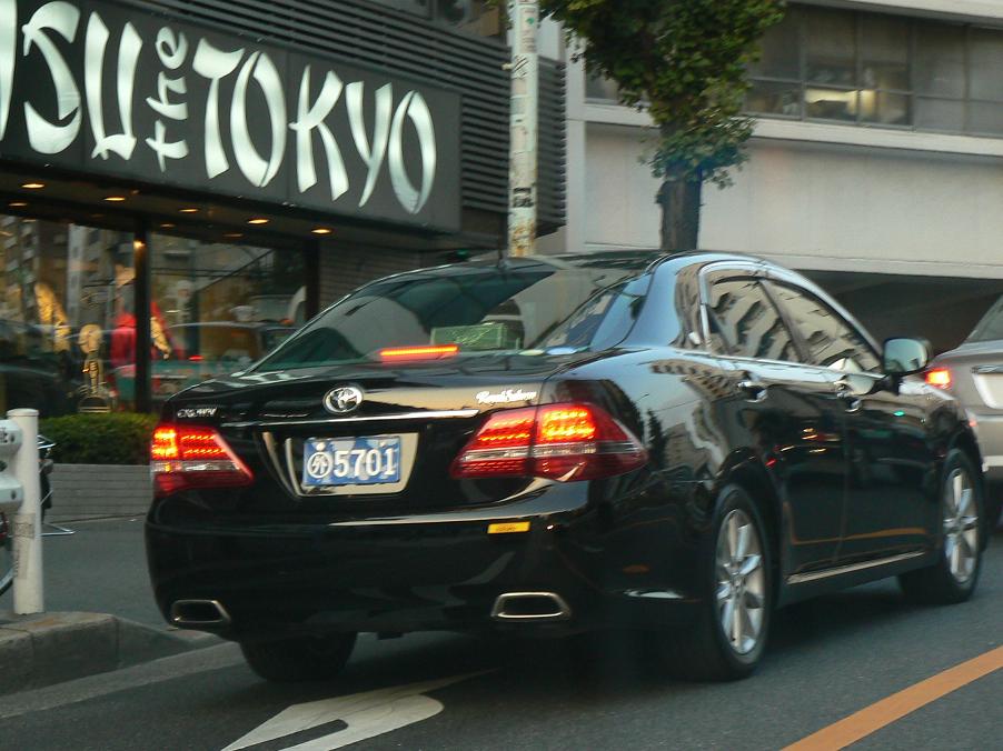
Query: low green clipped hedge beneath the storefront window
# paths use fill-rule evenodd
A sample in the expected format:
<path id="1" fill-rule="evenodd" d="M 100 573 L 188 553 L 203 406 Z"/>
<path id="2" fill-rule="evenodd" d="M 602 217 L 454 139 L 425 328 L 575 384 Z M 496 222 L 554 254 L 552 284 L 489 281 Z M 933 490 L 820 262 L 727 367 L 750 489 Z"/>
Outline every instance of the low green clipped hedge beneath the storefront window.
<path id="1" fill-rule="evenodd" d="M 56 441 L 57 463 L 146 464 L 156 424 L 155 414 L 68 414 L 40 420 L 39 432 Z"/>

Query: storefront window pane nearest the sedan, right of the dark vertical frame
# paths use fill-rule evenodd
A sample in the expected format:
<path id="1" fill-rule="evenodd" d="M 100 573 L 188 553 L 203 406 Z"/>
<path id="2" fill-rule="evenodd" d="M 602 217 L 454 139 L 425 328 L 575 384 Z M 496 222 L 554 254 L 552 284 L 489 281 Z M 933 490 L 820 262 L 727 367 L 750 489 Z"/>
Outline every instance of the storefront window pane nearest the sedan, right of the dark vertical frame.
<path id="1" fill-rule="evenodd" d="M 302 257 L 153 234 L 152 397 L 245 369 L 304 320 Z"/>

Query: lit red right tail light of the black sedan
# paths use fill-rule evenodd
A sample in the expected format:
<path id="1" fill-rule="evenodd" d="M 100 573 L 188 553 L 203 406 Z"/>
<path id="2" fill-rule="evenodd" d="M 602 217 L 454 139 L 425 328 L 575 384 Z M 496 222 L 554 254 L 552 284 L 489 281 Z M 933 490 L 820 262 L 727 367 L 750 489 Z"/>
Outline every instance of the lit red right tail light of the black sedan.
<path id="1" fill-rule="evenodd" d="M 593 480 L 642 467 L 647 452 L 594 404 L 544 404 L 491 414 L 450 467 L 455 478 Z"/>

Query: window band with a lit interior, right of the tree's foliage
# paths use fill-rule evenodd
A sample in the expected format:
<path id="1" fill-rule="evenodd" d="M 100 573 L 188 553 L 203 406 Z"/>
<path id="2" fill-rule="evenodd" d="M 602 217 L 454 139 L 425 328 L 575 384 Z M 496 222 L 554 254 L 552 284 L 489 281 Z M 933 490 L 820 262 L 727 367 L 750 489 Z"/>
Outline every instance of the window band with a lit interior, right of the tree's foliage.
<path id="1" fill-rule="evenodd" d="M 762 51 L 752 114 L 1003 136 L 1003 31 L 795 7 Z"/>

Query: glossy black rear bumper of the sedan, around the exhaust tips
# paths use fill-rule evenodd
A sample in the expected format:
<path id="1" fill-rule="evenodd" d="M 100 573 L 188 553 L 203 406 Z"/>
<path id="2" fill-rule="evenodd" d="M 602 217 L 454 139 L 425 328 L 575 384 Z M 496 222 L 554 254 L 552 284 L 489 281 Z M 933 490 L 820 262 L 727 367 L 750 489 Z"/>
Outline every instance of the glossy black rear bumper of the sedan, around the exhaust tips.
<path id="1" fill-rule="evenodd" d="M 165 618 L 179 600 L 217 601 L 228 621 L 185 628 L 229 639 L 424 630 L 560 635 L 691 617 L 695 600 L 685 593 L 609 574 L 593 513 L 515 518 L 529 521 L 529 531 L 488 534 L 489 519 L 182 527 L 151 515 L 146 535 Z M 554 594 L 566 612 L 506 619 L 546 610 L 539 599 L 505 603 L 513 593 Z M 499 612 L 499 598 L 508 610 Z"/>

